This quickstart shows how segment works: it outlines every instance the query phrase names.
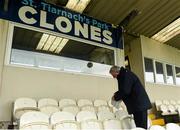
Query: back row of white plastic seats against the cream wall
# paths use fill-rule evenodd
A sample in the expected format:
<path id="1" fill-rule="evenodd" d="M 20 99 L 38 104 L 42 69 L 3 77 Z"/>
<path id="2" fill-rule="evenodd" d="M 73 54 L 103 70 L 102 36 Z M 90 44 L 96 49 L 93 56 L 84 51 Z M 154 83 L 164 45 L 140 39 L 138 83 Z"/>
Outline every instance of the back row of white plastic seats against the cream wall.
<path id="1" fill-rule="evenodd" d="M 120 110 L 122 110 L 121 107 Z M 102 111 L 115 113 L 118 109 L 109 106 L 108 102 L 104 100 L 95 100 L 93 102 L 88 99 L 80 99 L 78 101 L 61 99 L 58 102 L 51 98 L 43 98 L 39 101 L 31 98 L 19 98 L 14 102 L 13 117 L 15 120 L 19 120 L 24 113 L 29 111 L 40 111 L 50 117 L 53 113 L 59 111 L 69 112 L 76 116 L 80 111 L 91 111 L 101 114 Z"/>

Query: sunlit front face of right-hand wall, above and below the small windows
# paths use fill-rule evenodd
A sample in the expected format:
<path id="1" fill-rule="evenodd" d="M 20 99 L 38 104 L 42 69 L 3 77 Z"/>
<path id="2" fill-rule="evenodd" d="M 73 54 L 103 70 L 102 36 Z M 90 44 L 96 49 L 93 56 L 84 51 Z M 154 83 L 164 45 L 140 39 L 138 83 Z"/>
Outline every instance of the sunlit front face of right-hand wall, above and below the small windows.
<path id="1" fill-rule="evenodd" d="M 180 51 L 171 46 L 141 36 L 143 57 L 153 58 L 164 63 L 180 66 Z M 157 99 L 180 99 L 180 86 L 146 83 L 151 101 Z"/>

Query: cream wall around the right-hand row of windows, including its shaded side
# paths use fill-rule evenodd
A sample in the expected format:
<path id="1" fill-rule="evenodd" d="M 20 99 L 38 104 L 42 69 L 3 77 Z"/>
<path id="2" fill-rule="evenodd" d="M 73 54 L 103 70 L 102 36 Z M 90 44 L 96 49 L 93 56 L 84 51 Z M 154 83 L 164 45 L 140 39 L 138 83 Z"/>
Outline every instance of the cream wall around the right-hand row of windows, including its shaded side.
<path id="1" fill-rule="evenodd" d="M 129 56 L 131 69 L 145 84 L 145 89 L 152 102 L 157 99 L 180 99 L 180 86 L 145 83 L 143 70 L 144 57 L 180 66 L 180 51 L 178 49 L 141 36 L 126 44 L 125 55 Z"/>

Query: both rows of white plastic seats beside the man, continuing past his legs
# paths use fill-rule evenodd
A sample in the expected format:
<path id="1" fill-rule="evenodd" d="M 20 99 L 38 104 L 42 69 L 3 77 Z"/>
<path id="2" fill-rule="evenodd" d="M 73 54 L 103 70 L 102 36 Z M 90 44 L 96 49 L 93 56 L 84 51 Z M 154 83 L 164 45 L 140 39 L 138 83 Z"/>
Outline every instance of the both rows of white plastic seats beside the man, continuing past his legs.
<path id="1" fill-rule="evenodd" d="M 119 109 L 111 101 L 88 99 L 18 98 L 14 102 L 14 122 L 21 130 L 143 130 L 121 103 Z M 180 130 L 174 123 L 165 126 L 149 123 L 149 130 Z"/>

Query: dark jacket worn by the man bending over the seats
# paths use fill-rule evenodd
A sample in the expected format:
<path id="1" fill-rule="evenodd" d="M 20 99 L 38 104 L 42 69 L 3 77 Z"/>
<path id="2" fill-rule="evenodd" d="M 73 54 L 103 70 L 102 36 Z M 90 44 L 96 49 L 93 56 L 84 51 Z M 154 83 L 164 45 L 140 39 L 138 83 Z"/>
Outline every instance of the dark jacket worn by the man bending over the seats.
<path id="1" fill-rule="evenodd" d="M 151 108 L 149 97 L 134 73 L 121 67 L 117 80 L 119 90 L 115 93 L 114 99 L 123 100 L 129 114 Z"/>

